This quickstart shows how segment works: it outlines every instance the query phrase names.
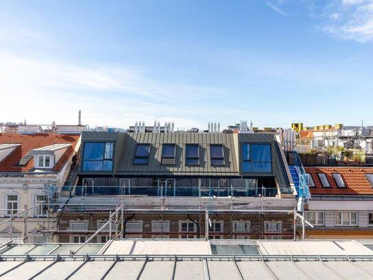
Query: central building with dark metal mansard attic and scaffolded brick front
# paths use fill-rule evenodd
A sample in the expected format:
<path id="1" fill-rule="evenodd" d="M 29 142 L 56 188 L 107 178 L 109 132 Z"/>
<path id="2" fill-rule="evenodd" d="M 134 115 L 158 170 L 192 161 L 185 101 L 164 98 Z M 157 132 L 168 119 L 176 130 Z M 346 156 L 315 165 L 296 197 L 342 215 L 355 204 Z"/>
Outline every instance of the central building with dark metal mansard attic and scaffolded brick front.
<path id="1" fill-rule="evenodd" d="M 273 133 L 83 132 L 81 147 L 78 184 L 56 200 L 59 241 L 86 240 L 117 206 L 96 241 L 293 238 L 297 193 Z"/>

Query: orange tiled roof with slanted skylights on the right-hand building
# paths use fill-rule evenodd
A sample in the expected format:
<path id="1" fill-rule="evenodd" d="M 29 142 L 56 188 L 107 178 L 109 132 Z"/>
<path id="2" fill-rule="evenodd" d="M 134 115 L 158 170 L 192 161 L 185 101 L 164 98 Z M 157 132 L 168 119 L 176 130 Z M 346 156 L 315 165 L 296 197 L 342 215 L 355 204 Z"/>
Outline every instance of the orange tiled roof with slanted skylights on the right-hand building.
<path id="1" fill-rule="evenodd" d="M 373 195 L 373 187 L 365 174 L 373 174 L 373 167 L 305 167 L 306 173 L 312 175 L 315 187 L 310 187 L 311 195 Z M 317 173 L 325 173 L 330 182 L 330 188 L 321 186 Z M 339 173 L 346 184 L 340 188 L 335 183 L 332 173 Z"/>

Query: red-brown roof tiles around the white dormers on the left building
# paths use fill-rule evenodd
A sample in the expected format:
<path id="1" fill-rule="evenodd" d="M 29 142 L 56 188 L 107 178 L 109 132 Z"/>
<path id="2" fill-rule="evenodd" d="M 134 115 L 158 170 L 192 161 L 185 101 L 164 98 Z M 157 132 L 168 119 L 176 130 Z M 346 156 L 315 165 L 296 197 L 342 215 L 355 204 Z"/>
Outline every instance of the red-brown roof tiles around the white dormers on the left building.
<path id="1" fill-rule="evenodd" d="M 0 133 L 0 144 L 17 143 L 21 146 L 16 147 L 8 157 L 0 162 L 0 172 L 27 172 L 33 169 L 34 160 L 31 159 L 25 166 L 17 166 L 19 161 L 28 152 L 36 148 L 45 147 L 52 144 L 71 144 L 65 153 L 61 156 L 60 160 L 56 162 L 53 171 L 60 171 L 69 159 L 71 153 L 74 152 L 76 143 L 80 135 L 77 134 L 56 134 L 56 133 L 43 133 L 43 134 L 16 134 L 16 133 Z"/>

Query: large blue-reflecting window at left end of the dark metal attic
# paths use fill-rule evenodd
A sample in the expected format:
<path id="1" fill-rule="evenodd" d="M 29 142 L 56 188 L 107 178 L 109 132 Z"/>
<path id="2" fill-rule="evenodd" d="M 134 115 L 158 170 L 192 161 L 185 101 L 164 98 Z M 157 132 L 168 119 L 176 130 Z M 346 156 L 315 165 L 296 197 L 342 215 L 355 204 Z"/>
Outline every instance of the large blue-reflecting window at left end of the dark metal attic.
<path id="1" fill-rule="evenodd" d="M 83 171 L 112 171 L 113 142 L 84 143 Z"/>

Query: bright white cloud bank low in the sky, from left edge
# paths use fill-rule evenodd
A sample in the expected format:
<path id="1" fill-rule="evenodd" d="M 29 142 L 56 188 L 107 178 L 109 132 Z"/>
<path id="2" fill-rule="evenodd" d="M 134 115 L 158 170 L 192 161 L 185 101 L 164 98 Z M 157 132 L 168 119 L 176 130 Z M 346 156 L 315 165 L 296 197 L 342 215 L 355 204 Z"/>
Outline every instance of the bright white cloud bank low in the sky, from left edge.
<path id="1" fill-rule="evenodd" d="M 0 122 L 76 123 L 82 109 L 83 122 L 91 126 L 125 128 L 157 119 L 204 128 L 208 120 L 245 114 L 214 103 L 212 96 L 230 98 L 227 89 L 156 82 L 124 65 L 71 65 L 1 52 L 0 61 Z"/>

